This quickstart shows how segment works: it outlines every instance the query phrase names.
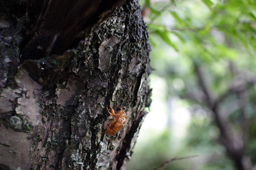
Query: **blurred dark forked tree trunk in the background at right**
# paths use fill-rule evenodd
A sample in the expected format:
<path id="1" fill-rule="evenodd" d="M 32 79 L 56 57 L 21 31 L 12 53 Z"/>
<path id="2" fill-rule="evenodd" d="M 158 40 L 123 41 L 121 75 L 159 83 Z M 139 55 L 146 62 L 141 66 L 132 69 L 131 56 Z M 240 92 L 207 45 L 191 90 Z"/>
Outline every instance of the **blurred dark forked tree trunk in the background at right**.
<path id="1" fill-rule="evenodd" d="M 216 126 L 219 128 L 220 131 L 220 141 L 225 146 L 227 151 L 230 154 L 230 157 L 235 161 L 236 168 L 239 170 L 246 170 L 248 167 L 248 163 L 244 161 L 245 154 L 245 144 L 246 144 L 246 134 L 248 130 L 248 123 L 247 119 L 245 118 L 245 107 L 246 107 L 246 89 L 241 90 L 241 88 L 235 89 L 232 87 L 233 90 L 228 90 L 226 94 L 223 96 L 217 97 L 214 99 L 212 94 L 210 93 L 209 87 L 205 82 L 205 78 L 203 75 L 203 71 L 201 70 L 200 66 L 197 63 L 194 63 L 194 68 L 196 75 L 199 80 L 199 86 L 202 88 L 206 100 L 205 103 L 207 107 L 212 111 L 215 117 Z M 239 75 L 239 73 L 236 73 Z M 241 76 L 240 76 L 241 78 Z M 245 86 L 247 87 L 247 86 Z M 231 130 L 230 122 L 225 119 L 225 117 L 221 116 L 221 112 L 219 110 L 220 101 L 224 100 L 227 96 L 232 93 L 236 93 L 237 97 L 239 98 L 239 107 L 240 107 L 240 128 L 241 133 L 235 135 Z"/>

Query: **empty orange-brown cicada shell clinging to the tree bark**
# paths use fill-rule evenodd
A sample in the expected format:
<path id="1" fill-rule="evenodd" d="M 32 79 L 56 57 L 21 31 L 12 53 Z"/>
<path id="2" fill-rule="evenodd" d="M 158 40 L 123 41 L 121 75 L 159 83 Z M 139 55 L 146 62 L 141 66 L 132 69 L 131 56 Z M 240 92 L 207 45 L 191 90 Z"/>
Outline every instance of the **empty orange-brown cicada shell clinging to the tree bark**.
<path id="1" fill-rule="evenodd" d="M 101 134 L 106 132 L 107 135 L 114 136 L 118 131 L 123 129 L 124 124 L 126 123 L 127 115 L 123 111 L 123 109 L 119 106 L 117 107 L 119 107 L 120 110 L 117 112 L 114 111 L 111 106 L 109 107 L 111 108 L 111 113 L 109 112 L 108 105 L 107 105 L 108 113 L 113 116 L 114 120 L 109 123 L 107 130 L 105 130 Z"/>

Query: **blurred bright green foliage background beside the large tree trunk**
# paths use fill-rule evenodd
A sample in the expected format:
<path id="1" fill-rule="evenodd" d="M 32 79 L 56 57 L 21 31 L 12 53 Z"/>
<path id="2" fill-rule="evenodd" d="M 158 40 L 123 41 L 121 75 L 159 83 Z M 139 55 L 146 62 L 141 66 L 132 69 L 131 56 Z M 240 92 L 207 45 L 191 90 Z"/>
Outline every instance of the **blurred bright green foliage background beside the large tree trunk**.
<path id="1" fill-rule="evenodd" d="M 126 169 L 256 170 L 255 0 L 140 4 L 153 102 Z"/>

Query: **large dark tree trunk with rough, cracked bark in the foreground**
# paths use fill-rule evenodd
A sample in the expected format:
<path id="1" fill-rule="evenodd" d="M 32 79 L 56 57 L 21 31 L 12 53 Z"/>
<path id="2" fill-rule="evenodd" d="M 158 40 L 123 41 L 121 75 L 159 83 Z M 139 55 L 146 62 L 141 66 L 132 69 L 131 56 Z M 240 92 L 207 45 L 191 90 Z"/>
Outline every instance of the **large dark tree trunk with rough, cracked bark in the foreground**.
<path id="1" fill-rule="evenodd" d="M 125 169 L 151 102 L 138 1 L 2 1 L 0 10 L 0 169 Z M 107 105 L 129 109 L 114 136 L 101 134 Z"/>

